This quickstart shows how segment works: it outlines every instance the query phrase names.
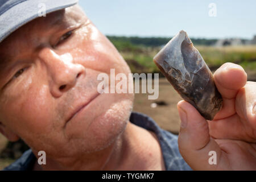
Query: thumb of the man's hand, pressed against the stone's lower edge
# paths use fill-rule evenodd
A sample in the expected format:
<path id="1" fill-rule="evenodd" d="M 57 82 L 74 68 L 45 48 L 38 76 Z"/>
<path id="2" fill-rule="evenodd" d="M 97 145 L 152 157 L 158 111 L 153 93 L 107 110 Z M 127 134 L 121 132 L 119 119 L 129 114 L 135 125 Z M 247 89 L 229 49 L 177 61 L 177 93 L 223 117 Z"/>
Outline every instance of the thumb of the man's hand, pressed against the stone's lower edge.
<path id="1" fill-rule="evenodd" d="M 178 143 L 184 160 L 192 169 L 220 170 L 222 151 L 209 135 L 207 120 L 186 101 L 180 101 L 177 109 L 181 119 Z"/>

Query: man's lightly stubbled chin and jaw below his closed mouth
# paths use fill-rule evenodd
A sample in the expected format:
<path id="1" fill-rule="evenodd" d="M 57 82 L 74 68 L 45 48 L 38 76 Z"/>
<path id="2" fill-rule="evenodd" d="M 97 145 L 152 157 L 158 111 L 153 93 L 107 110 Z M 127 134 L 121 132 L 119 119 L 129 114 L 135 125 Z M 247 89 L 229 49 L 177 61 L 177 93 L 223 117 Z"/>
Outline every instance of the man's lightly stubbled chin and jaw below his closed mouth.
<path id="1" fill-rule="evenodd" d="M 110 146 L 125 130 L 132 106 L 130 94 L 101 94 L 79 120 L 68 123 L 65 132 L 70 144 L 86 153 Z"/>

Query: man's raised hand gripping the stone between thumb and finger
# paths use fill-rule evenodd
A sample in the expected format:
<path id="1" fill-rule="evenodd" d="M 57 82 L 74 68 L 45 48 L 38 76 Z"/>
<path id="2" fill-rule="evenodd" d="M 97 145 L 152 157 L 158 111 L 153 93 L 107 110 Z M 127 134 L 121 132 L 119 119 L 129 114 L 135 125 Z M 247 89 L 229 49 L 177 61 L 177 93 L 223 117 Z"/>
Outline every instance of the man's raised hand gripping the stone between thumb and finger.
<path id="1" fill-rule="evenodd" d="M 214 73 L 223 98 L 213 121 L 186 101 L 177 104 L 181 118 L 179 150 L 197 170 L 256 170 L 256 82 L 247 81 L 240 65 L 226 63 Z M 217 164 L 209 164 L 209 152 Z"/>

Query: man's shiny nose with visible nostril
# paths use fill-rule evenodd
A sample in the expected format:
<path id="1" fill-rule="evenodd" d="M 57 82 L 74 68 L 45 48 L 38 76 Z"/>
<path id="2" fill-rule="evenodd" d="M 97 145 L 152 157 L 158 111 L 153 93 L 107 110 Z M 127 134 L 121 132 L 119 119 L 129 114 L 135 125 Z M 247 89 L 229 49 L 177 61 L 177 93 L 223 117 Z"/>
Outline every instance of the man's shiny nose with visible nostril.
<path id="1" fill-rule="evenodd" d="M 77 78 L 85 74 L 85 68 L 73 63 L 70 53 L 58 55 L 51 48 L 42 48 L 39 59 L 47 67 L 49 75 L 49 88 L 53 96 L 60 97 L 65 91 L 75 86 Z"/>

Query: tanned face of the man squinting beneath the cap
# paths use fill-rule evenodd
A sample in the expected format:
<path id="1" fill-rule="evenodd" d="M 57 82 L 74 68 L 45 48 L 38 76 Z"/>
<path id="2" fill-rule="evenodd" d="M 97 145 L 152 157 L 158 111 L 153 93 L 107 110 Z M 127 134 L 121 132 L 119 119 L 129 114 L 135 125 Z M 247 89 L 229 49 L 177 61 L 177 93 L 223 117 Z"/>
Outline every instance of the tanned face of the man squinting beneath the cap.
<path id="1" fill-rule="evenodd" d="M 97 151 L 125 129 L 133 94 L 99 94 L 97 76 L 130 69 L 78 6 L 19 28 L 0 44 L 0 64 L 1 130 L 34 151 Z"/>

